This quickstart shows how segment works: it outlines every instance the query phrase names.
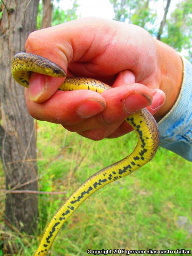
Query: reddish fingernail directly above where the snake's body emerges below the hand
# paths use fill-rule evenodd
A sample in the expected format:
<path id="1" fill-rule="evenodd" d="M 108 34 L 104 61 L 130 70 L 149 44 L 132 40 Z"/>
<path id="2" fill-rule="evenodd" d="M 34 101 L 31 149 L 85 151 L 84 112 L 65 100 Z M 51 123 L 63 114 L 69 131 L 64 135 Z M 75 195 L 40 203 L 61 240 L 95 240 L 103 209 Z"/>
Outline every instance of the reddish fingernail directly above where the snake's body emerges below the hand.
<path id="1" fill-rule="evenodd" d="M 132 92 L 124 101 L 128 113 L 134 113 L 151 104 L 151 99 L 147 94 L 141 92 Z"/>

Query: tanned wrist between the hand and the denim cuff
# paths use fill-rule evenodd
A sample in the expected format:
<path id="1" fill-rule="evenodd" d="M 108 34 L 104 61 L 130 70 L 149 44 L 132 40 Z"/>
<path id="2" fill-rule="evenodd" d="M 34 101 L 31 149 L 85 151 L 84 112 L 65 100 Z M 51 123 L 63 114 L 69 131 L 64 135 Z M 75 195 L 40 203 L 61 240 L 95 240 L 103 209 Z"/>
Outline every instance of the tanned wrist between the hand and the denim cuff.
<path id="1" fill-rule="evenodd" d="M 156 39 L 155 43 L 159 73 L 161 74 L 159 89 L 166 95 L 164 105 L 155 115 L 158 121 L 171 110 L 179 96 L 183 79 L 183 63 L 179 54 L 170 46 Z"/>

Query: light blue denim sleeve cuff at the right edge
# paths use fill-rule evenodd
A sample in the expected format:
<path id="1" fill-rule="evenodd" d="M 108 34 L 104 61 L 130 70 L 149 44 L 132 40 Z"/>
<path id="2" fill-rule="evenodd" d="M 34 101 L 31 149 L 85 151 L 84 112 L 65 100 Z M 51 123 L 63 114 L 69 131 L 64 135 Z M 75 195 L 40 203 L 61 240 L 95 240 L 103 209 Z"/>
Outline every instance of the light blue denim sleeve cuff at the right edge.
<path id="1" fill-rule="evenodd" d="M 183 61 L 183 82 L 172 109 L 158 123 L 160 146 L 192 161 L 192 65 Z"/>

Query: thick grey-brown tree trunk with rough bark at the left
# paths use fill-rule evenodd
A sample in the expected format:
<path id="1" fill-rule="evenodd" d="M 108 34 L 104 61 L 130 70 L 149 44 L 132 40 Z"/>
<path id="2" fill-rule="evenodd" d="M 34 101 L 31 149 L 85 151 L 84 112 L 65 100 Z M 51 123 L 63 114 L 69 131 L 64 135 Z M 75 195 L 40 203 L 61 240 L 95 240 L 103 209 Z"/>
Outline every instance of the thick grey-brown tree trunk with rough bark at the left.
<path id="1" fill-rule="evenodd" d="M 13 81 L 11 60 L 25 51 L 25 41 L 36 29 L 39 0 L 4 0 L 0 20 L 0 153 L 6 189 L 37 190 L 36 138 L 34 120 L 29 116 L 24 88 Z M 5 222 L 19 231 L 33 234 L 37 229 L 38 196 L 7 194 Z"/>

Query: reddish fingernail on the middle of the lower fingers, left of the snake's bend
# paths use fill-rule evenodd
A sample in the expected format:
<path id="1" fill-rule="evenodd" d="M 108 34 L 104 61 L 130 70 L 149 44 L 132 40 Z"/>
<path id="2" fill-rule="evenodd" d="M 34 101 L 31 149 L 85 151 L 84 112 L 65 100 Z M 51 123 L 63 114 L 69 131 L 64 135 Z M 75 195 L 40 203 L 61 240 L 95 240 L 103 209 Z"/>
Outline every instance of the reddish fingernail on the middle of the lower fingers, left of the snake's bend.
<path id="1" fill-rule="evenodd" d="M 95 116 L 105 109 L 105 104 L 99 100 L 85 100 L 77 108 L 77 114 L 83 118 Z"/>

